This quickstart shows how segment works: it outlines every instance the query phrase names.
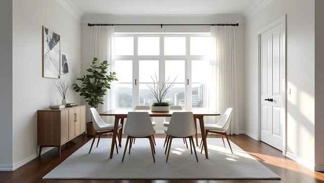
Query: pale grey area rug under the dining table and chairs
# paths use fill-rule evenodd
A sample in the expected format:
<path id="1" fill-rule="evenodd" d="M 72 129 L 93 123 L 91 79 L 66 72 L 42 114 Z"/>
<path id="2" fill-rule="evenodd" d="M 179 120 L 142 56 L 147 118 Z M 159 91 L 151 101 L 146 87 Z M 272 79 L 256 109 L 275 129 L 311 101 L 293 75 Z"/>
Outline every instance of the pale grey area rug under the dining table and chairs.
<path id="1" fill-rule="evenodd" d="M 109 159 L 111 139 L 101 139 L 99 146 L 92 148 L 92 140 L 45 175 L 44 179 L 280 179 L 278 175 L 248 155 L 231 142 L 233 153 L 223 146 L 222 139 L 209 138 L 209 159 L 196 146 L 198 160 L 194 152 L 183 143 L 183 139 L 173 139 L 168 163 L 165 162 L 164 139 L 156 138 L 156 155 L 153 162 L 148 139 L 136 139 L 130 155 L 122 156 L 123 147 L 114 151 Z M 199 141 L 200 142 L 200 141 Z M 188 141 L 189 143 L 189 141 Z M 189 145 L 189 144 L 188 144 Z M 227 145 L 228 147 L 228 145 Z"/>

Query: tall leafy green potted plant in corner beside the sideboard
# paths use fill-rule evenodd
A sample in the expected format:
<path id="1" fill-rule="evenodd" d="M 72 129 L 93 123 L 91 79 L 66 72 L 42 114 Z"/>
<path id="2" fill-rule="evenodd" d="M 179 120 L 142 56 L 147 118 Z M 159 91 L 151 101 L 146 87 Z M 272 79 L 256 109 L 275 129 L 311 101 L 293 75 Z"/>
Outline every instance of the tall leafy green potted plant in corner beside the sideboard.
<path id="1" fill-rule="evenodd" d="M 118 81 L 115 72 L 110 72 L 109 75 L 107 74 L 106 70 L 109 66 L 108 62 L 104 60 L 99 64 L 97 60 L 98 59 L 94 57 L 90 68 L 86 70 L 89 74 L 77 78 L 77 80 L 82 81 L 82 84 L 73 84 L 75 92 L 79 92 L 80 96 L 83 96 L 84 99 L 86 99 L 86 102 L 96 109 L 99 104 L 103 104 L 103 96 L 105 96 L 107 89 L 111 88 L 110 82 Z M 88 131 L 88 124 L 91 124 L 89 126 L 92 127 L 92 117 L 91 122 L 87 123 L 87 132 L 89 135 L 89 131 L 92 129 Z"/>

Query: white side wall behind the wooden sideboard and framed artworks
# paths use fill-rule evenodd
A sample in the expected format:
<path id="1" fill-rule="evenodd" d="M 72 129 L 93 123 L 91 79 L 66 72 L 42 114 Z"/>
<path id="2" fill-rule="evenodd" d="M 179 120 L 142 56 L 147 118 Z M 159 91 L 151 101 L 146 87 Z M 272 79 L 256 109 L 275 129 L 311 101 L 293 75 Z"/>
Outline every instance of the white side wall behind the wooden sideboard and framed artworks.
<path id="1" fill-rule="evenodd" d="M 13 164 L 37 156 L 37 110 L 61 103 L 54 81 L 42 77 L 42 26 L 61 36 L 69 53 L 70 84 L 81 76 L 81 23 L 55 0 L 13 1 Z M 68 102 L 80 104 L 70 86 Z M 45 149 L 46 151 L 46 149 Z"/>

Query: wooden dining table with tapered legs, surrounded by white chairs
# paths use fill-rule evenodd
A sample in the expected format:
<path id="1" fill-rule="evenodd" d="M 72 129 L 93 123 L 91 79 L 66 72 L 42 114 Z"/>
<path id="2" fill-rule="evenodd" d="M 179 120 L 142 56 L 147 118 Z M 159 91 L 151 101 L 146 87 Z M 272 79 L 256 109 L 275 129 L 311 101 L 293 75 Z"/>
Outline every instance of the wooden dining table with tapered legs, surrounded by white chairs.
<path id="1" fill-rule="evenodd" d="M 200 131 L 201 131 L 201 138 L 202 142 L 204 144 L 204 150 L 205 150 L 205 156 L 206 159 L 208 159 L 208 150 L 207 150 L 207 141 L 206 141 L 206 134 L 205 134 L 205 127 L 204 127 L 204 116 L 218 116 L 221 115 L 220 113 L 210 111 L 210 110 L 170 110 L 168 112 L 152 112 L 151 110 L 126 110 L 126 109 L 120 109 L 120 110 L 109 110 L 105 112 L 101 112 L 99 115 L 102 116 L 115 116 L 115 123 L 114 123 L 114 133 L 113 133 L 113 139 L 112 139 L 112 147 L 110 150 L 110 159 L 113 158 L 114 155 L 114 147 L 117 137 L 117 131 L 118 131 L 118 124 L 119 122 L 124 124 L 124 119 L 127 118 L 128 112 L 148 112 L 151 117 L 171 117 L 173 112 L 192 112 L 194 115 L 194 124 L 196 127 L 196 145 L 198 146 L 198 135 L 197 135 L 197 119 L 199 120 L 200 124 Z M 120 139 L 122 139 L 122 129 L 119 130 L 119 136 Z M 120 140 L 121 142 L 121 140 Z M 119 146 L 121 146 L 121 143 L 119 143 Z"/>

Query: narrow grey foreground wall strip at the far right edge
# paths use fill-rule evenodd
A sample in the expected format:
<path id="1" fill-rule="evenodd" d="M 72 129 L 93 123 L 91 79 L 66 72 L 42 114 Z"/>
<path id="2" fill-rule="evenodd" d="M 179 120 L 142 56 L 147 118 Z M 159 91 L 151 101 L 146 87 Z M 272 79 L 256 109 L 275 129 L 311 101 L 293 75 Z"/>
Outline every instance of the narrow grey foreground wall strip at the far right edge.
<path id="1" fill-rule="evenodd" d="M 315 0 L 315 170 L 324 171 L 324 1 Z"/>

